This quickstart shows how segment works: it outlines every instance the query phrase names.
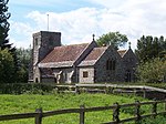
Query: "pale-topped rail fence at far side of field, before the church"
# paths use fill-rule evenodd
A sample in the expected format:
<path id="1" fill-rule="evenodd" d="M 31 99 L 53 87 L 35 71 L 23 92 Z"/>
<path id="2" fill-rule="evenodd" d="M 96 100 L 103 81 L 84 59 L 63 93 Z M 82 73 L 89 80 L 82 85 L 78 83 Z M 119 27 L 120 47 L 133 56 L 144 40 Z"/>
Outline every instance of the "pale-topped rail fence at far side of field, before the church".
<path id="1" fill-rule="evenodd" d="M 113 93 L 113 94 L 132 94 L 146 99 L 165 100 L 166 90 L 145 85 L 122 85 L 122 84 L 75 84 L 75 85 L 56 85 L 58 92 L 72 93 Z"/>

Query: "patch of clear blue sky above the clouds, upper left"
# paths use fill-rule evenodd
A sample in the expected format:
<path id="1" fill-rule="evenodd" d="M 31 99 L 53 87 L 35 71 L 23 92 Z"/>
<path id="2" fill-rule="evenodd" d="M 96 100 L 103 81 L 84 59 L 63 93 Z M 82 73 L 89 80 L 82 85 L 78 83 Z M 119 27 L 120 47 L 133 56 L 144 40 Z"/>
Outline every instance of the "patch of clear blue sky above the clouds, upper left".
<path id="1" fill-rule="evenodd" d="M 21 20 L 31 11 L 65 12 L 84 7 L 100 7 L 87 0 L 12 0 L 9 2 L 12 20 Z M 19 17 L 22 18 L 19 18 Z M 21 20 L 22 21 L 22 20 Z"/>

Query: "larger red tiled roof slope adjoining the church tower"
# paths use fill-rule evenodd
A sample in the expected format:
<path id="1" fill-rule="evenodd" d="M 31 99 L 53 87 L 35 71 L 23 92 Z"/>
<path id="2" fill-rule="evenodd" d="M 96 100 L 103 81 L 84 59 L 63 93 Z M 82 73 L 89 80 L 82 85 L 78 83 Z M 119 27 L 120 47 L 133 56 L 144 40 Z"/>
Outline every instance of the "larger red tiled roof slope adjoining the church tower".
<path id="1" fill-rule="evenodd" d="M 89 43 L 55 46 L 41 63 L 75 61 Z"/>

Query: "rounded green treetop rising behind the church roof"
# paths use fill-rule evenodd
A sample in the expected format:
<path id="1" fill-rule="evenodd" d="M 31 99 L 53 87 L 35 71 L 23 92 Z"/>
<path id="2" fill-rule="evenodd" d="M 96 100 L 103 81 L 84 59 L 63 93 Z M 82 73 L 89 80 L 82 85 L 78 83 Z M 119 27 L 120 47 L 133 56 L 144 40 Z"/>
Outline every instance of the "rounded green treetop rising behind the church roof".
<path id="1" fill-rule="evenodd" d="M 118 31 L 108 32 L 106 34 L 103 34 L 96 40 L 100 46 L 113 45 L 115 49 L 118 49 L 118 46 L 124 45 L 127 41 L 128 41 L 127 37 L 125 34 L 121 34 Z"/>

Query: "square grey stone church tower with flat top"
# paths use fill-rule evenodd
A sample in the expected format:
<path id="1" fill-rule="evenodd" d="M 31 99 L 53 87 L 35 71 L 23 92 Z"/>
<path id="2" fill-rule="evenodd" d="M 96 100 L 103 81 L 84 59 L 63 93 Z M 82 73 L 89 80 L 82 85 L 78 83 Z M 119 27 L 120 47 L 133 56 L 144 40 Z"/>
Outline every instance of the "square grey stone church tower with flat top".
<path id="1" fill-rule="evenodd" d="M 40 31 L 33 34 L 33 49 L 30 78 L 32 82 L 40 82 L 38 63 L 51 52 L 54 46 L 61 46 L 61 32 Z"/>

